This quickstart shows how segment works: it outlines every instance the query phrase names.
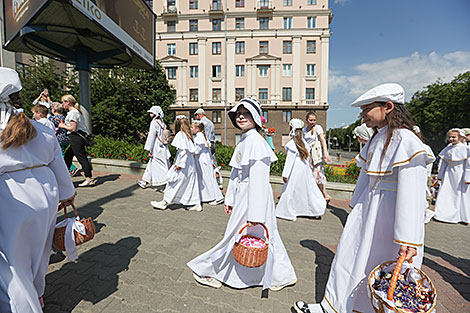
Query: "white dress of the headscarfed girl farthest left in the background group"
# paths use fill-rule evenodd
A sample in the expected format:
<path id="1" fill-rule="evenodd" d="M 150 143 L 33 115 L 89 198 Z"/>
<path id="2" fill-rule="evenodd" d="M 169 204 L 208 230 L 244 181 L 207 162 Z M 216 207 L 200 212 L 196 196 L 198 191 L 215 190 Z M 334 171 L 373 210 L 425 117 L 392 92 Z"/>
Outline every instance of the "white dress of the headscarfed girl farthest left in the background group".
<path id="1" fill-rule="evenodd" d="M 150 123 L 149 134 L 145 142 L 144 149 L 151 152 L 153 157 L 150 158 L 145 168 L 142 180 L 150 183 L 152 186 L 161 186 L 168 181 L 170 151 L 168 146 L 161 141 L 165 129 L 165 123 L 155 117 Z"/>

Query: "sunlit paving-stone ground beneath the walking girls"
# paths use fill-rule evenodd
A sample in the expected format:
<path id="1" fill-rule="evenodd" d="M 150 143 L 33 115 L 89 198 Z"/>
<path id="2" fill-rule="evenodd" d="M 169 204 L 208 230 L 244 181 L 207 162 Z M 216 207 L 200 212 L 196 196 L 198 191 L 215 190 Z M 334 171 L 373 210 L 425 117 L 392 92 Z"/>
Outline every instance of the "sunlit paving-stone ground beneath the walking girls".
<path id="1" fill-rule="evenodd" d="M 139 177 L 96 174 L 97 186 L 78 188 L 76 198 L 80 215 L 95 221 L 96 236 L 79 246 L 74 262 L 51 257 L 46 313 L 289 313 L 297 300 L 322 299 L 349 212 L 346 201 L 331 201 L 321 220 L 278 220 L 298 282 L 266 299 L 261 287 L 198 285 L 186 266 L 223 237 L 228 216 L 222 205 L 205 205 L 202 212 L 154 210 L 150 201 L 163 194 L 139 188 Z M 438 290 L 438 313 L 470 312 L 469 239 L 468 226 L 434 221 L 426 226 L 423 269 Z"/>

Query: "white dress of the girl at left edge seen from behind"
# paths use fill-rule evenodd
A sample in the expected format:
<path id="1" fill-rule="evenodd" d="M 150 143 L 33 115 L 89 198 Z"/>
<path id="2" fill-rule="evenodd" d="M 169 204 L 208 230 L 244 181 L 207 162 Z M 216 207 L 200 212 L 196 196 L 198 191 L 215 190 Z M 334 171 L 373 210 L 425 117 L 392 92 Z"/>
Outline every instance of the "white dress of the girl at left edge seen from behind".
<path id="1" fill-rule="evenodd" d="M 55 135 L 31 123 L 36 137 L 0 148 L 0 312 L 42 312 L 57 207 L 75 194 Z"/>

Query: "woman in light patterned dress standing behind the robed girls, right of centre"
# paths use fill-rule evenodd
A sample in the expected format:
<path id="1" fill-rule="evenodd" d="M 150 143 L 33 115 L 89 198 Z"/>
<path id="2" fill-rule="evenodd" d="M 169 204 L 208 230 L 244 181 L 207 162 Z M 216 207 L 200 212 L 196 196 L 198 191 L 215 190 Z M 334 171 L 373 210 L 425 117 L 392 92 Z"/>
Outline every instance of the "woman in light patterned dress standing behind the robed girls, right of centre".
<path id="1" fill-rule="evenodd" d="M 303 135 L 309 145 L 313 176 L 325 200 L 330 201 L 331 197 L 326 192 L 326 176 L 323 170 L 323 160 L 331 162 L 326 146 L 325 132 L 321 125 L 317 125 L 317 114 L 315 112 L 308 112 L 305 121 L 307 126 L 303 129 Z"/>

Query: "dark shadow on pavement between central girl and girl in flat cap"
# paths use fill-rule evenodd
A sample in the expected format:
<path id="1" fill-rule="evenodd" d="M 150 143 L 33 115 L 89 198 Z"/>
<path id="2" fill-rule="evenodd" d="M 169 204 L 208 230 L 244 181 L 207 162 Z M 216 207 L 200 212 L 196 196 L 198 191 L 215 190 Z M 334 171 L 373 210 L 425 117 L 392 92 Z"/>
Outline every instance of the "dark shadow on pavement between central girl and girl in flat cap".
<path id="1" fill-rule="evenodd" d="M 315 264 L 317 265 L 315 270 L 315 301 L 320 303 L 325 295 L 326 282 L 335 254 L 316 240 L 301 240 L 300 245 L 315 252 Z"/>

